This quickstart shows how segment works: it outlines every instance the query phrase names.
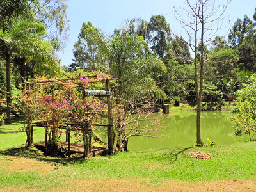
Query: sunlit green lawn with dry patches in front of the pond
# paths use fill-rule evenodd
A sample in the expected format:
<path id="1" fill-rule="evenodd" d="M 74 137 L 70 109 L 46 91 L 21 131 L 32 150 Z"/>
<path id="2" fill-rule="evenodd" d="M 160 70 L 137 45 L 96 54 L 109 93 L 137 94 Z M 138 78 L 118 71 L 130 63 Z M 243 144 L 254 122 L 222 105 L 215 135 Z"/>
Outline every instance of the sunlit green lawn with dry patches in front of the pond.
<path id="1" fill-rule="evenodd" d="M 188 191 L 193 186 L 198 191 L 212 186 L 209 189 L 214 191 L 221 185 L 228 191 L 229 183 L 233 187 L 247 183 L 236 191 L 249 186 L 256 189 L 256 143 L 60 159 L 45 157 L 36 148 L 24 149 L 26 135 L 17 129 L 21 126 L 16 122 L 0 127 L 0 191 Z M 41 129 L 35 129 L 37 141 L 44 138 Z M 211 158 L 192 158 L 192 151 L 205 152 Z"/>

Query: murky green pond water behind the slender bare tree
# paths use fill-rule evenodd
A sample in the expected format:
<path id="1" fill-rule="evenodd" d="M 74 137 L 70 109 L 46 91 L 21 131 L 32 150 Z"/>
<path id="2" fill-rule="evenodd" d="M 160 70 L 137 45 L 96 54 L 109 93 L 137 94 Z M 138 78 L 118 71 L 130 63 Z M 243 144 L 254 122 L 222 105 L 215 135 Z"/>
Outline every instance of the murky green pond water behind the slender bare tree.
<path id="1" fill-rule="evenodd" d="M 129 138 L 128 149 L 148 150 L 150 148 L 189 147 L 196 144 L 196 113 L 190 111 L 170 113 L 170 118 L 163 120 L 166 126 L 161 138 L 145 138 L 134 136 Z M 232 122 L 228 120 L 228 112 L 202 112 L 201 138 L 207 143 L 207 138 L 218 145 L 244 142 L 248 136 L 236 136 Z"/>

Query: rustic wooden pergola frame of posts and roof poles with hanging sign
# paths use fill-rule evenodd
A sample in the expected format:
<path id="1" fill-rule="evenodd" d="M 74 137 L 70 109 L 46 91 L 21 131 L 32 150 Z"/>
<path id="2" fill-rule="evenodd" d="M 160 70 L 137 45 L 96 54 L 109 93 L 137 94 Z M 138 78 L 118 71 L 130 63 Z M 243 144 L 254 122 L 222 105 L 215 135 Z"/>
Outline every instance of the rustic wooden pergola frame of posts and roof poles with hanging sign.
<path id="1" fill-rule="evenodd" d="M 93 84 L 93 83 L 104 83 L 105 84 L 105 90 L 84 90 L 83 97 L 86 97 L 86 95 L 95 95 L 97 97 L 106 97 L 107 104 L 108 104 L 108 125 L 100 125 L 100 124 L 92 124 L 95 126 L 102 126 L 102 127 L 107 127 L 108 129 L 108 154 L 113 154 L 113 117 L 111 113 L 111 92 L 109 89 L 109 81 L 115 80 L 113 78 L 111 79 L 97 79 L 97 75 L 92 75 L 92 76 L 79 76 L 79 77 L 71 77 L 71 78 L 66 78 L 66 79 L 50 79 L 50 80 L 45 80 L 45 81 L 31 81 L 31 82 L 24 82 L 26 85 L 26 90 L 30 93 L 31 92 L 31 87 L 33 87 L 35 84 L 47 84 L 47 86 L 51 86 L 51 92 L 52 95 L 54 95 L 54 88 L 53 86 L 61 83 L 61 82 L 68 82 L 68 81 L 75 81 L 73 84 L 81 84 L 79 83 L 79 79 L 83 78 L 88 78 L 89 82 L 88 84 Z M 65 125 L 61 126 L 60 129 L 66 129 L 66 142 L 68 143 L 68 157 L 70 157 L 70 129 L 69 127 L 75 125 L 72 124 L 72 122 L 65 122 Z M 42 125 L 40 123 L 35 123 L 29 125 L 30 127 L 30 138 L 31 138 L 31 143 L 33 143 L 33 126 L 42 126 L 45 127 L 45 125 Z M 48 127 L 45 127 L 45 147 L 47 145 L 47 133 L 48 133 Z M 92 130 L 90 129 L 89 125 L 86 125 L 85 127 L 85 140 L 86 144 L 84 145 L 84 156 L 88 156 L 90 154 L 92 147 L 91 147 L 91 142 L 92 142 Z"/>

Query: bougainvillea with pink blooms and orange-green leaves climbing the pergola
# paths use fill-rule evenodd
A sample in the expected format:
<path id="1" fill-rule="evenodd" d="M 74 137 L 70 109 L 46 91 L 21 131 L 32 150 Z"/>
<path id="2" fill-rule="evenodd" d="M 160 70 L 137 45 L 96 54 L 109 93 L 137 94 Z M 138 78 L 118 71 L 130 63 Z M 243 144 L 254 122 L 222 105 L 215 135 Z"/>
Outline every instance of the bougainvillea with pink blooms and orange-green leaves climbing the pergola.
<path id="1" fill-rule="evenodd" d="M 49 131 L 49 140 L 58 140 L 62 133 L 59 128 L 67 122 L 74 124 L 73 128 L 78 132 L 83 132 L 84 124 L 92 124 L 93 120 L 105 116 L 107 111 L 103 98 L 85 96 L 83 90 L 111 78 L 102 72 L 84 74 L 78 71 L 76 74 L 68 74 L 68 78 L 36 79 L 30 83 L 30 91 L 24 92 L 22 96 L 26 106 L 24 109 L 27 109 L 24 113 L 28 113 L 24 115 L 24 122 L 42 122 Z"/>

